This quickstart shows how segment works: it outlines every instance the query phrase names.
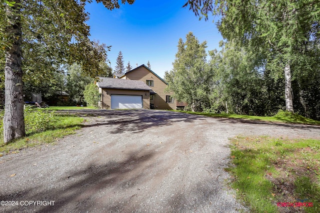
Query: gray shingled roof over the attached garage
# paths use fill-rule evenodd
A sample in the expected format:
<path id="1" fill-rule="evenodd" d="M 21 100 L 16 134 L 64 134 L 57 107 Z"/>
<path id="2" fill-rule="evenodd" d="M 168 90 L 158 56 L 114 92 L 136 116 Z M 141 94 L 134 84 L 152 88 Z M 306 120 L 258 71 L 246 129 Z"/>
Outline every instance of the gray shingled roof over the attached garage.
<path id="1" fill-rule="evenodd" d="M 99 77 L 99 79 L 100 80 L 97 82 L 97 85 L 100 88 L 151 90 L 151 88 L 142 81 L 107 77 Z"/>

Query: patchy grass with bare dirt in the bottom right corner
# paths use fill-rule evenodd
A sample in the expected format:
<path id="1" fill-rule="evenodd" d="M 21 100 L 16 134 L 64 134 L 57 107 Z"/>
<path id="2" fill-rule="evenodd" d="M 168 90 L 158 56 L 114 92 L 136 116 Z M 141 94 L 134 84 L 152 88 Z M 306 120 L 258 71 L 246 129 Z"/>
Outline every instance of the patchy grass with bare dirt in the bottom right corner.
<path id="1" fill-rule="evenodd" d="M 319 140 L 236 137 L 230 148 L 231 186 L 252 212 L 320 212 Z"/>

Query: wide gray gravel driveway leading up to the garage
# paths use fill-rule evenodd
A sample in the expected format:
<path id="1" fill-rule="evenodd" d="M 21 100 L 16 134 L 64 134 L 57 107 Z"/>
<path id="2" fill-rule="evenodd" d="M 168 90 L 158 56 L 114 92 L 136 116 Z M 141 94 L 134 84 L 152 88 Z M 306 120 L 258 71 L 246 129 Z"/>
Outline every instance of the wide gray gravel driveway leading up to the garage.
<path id="1" fill-rule="evenodd" d="M 72 113 L 87 120 L 76 134 L 0 158 L 0 201 L 14 201 L 0 212 L 247 212 L 226 184 L 228 138 L 320 137 L 315 126 L 158 110 Z"/>

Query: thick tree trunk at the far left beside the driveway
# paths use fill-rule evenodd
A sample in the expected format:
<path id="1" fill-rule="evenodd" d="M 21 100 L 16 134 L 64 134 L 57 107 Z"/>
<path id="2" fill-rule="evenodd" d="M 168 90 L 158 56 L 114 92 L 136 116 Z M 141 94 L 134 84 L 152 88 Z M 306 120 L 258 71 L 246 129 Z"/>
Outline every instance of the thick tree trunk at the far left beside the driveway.
<path id="1" fill-rule="evenodd" d="M 5 144 L 25 135 L 21 69 L 21 17 L 20 5 L 17 4 L 20 3 L 20 0 L 16 0 L 15 2 L 13 6 L 6 6 L 6 16 L 8 19 L 6 36 L 11 45 L 6 48 L 4 68 L 5 107 L 3 141 Z"/>

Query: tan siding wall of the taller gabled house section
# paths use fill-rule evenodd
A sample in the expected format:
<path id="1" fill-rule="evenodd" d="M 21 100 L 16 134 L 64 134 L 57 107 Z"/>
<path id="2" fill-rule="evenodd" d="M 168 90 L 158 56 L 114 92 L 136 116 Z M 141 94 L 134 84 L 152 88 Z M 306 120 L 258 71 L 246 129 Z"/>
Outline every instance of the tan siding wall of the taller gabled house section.
<path id="1" fill-rule="evenodd" d="M 176 100 L 173 99 L 173 103 L 166 103 L 165 96 L 173 95 L 173 93 L 165 93 L 164 89 L 166 88 L 166 84 L 161 81 L 157 76 L 155 76 L 152 72 L 150 72 L 145 67 L 141 66 L 132 72 L 128 72 L 122 78 L 130 79 L 130 80 L 139 80 L 146 83 L 146 80 L 153 80 L 153 86 L 149 86 L 156 94 L 153 95 L 153 104 L 154 109 L 175 109 L 176 108 Z M 152 100 L 150 100 L 152 103 Z"/>

